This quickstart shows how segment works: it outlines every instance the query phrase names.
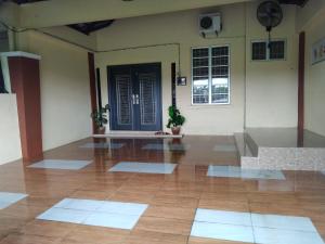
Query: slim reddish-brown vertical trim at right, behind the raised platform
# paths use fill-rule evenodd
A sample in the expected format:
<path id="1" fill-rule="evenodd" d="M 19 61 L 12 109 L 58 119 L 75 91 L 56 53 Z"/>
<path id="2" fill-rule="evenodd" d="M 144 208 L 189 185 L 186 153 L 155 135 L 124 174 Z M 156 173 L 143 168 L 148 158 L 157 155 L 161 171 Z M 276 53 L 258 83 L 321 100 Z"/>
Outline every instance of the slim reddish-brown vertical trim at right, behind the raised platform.
<path id="1" fill-rule="evenodd" d="M 298 146 L 303 146 L 304 130 L 304 52 L 306 34 L 299 34 L 299 56 L 298 56 Z"/>

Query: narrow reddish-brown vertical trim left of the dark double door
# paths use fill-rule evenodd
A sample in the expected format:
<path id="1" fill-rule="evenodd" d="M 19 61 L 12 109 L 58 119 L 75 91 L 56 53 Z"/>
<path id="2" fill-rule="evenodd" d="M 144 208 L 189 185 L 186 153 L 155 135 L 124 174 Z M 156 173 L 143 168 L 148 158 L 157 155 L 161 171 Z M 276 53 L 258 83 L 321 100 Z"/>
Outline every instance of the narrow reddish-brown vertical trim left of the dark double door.
<path id="1" fill-rule="evenodd" d="M 89 84 L 90 84 L 90 101 L 91 111 L 96 108 L 96 81 L 95 81 L 95 67 L 94 67 L 94 55 L 93 53 L 88 53 L 88 66 L 89 66 Z M 96 126 L 92 123 L 92 131 L 95 132 Z"/>

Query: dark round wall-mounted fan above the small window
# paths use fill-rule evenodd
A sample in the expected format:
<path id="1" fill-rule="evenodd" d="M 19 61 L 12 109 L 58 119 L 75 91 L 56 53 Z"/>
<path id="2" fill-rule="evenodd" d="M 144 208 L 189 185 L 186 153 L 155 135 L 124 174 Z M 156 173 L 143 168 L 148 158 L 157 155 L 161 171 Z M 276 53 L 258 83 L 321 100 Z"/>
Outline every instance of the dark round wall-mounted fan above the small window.
<path id="1" fill-rule="evenodd" d="M 257 9 L 257 18 L 266 28 L 270 43 L 272 28 L 278 26 L 283 18 L 280 4 L 275 1 L 261 2 Z"/>

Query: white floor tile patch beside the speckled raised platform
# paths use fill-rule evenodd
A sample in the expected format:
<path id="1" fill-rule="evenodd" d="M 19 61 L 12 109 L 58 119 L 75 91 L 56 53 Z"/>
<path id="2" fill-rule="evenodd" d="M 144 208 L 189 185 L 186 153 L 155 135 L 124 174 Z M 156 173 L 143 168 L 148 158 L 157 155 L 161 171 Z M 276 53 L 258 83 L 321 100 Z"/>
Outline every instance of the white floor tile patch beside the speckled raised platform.
<path id="1" fill-rule="evenodd" d="M 242 169 L 240 167 L 235 166 L 217 165 L 209 166 L 207 176 L 242 179 L 285 180 L 285 176 L 280 170 Z"/>

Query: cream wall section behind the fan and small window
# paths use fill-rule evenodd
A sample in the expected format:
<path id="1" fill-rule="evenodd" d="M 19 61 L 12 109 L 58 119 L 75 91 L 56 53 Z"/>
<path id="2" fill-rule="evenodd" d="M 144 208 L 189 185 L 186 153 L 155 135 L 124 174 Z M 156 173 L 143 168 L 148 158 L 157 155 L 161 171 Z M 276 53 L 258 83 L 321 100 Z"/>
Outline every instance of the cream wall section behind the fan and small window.
<path id="1" fill-rule="evenodd" d="M 247 8 L 246 66 L 246 126 L 297 127 L 298 81 L 296 9 L 282 5 L 283 22 L 271 33 L 271 38 L 287 42 L 284 61 L 251 61 L 251 41 L 266 40 L 268 33 L 256 17 L 259 2 Z"/>

